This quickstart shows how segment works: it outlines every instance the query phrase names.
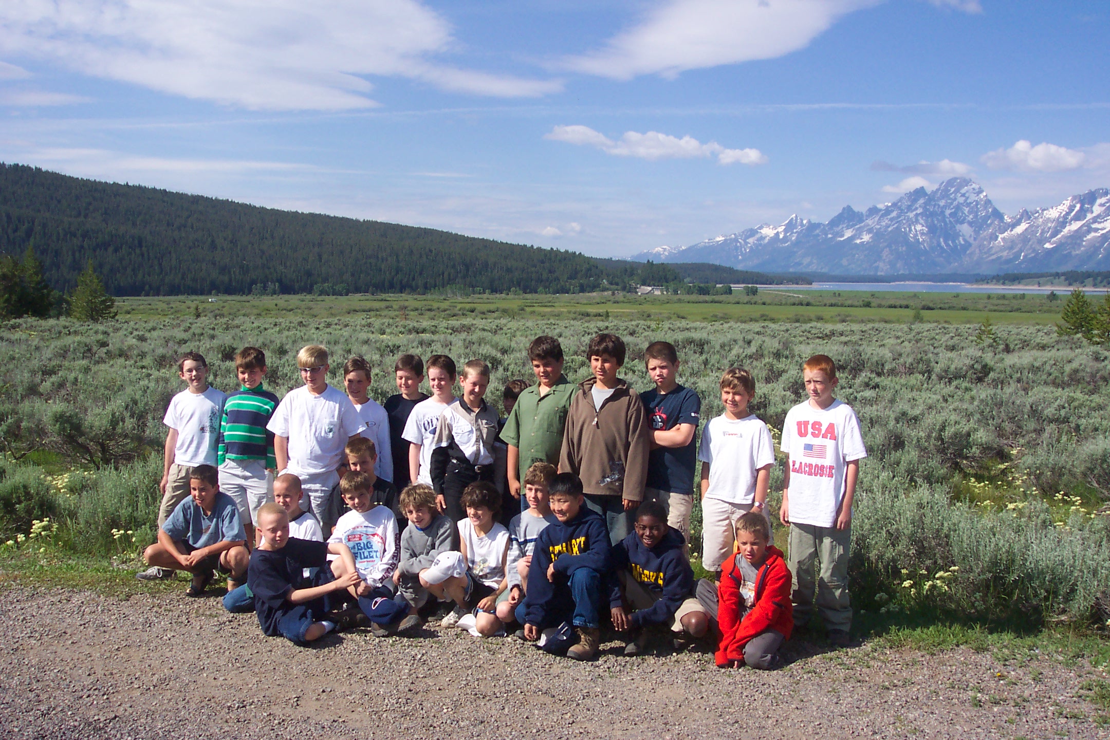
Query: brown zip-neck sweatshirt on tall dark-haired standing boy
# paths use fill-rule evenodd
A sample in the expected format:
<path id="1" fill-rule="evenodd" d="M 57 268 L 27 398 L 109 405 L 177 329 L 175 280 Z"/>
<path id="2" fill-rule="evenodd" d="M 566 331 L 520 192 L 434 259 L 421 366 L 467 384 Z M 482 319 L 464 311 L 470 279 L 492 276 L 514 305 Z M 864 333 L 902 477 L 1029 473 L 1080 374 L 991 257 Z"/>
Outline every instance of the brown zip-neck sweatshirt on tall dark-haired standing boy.
<path id="1" fill-rule="evenodd" d="M 587 494 L 644 500 L 650 449 L 644 404 L 627 382 L 617 378 L 613 395 L 595 410 L 596 383 L 593 377 L 583 381 L 571 399 L 558 469 L 582 478 Z"/>

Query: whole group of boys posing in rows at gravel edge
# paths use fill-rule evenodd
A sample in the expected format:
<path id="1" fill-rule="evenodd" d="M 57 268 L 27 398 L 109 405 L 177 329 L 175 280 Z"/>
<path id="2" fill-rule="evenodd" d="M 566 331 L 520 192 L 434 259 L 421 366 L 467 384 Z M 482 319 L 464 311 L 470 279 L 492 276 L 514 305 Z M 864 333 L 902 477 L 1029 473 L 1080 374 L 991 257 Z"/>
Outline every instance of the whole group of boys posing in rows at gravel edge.
<path id="1" fill-rule="evenodd" d="M 501 418 L 481 359 L 456 378 L 446 355 L 426 366 L 402 355 L 400 393 L 382 406 L 367 396 L 365 359 L 343 366 L 344 394 L 326 383 L 319 345 L 297 353 L 304 385 L 280 401 L 262 386 L 261 349 L 236 354 L 241 387 L 230 395 L 189 353 L 179 366 L 188 388 L 165 415 L 158 541 L 139 577 L 185 570 L 199 596 L 221 571 L 229 610 L 255 611 L 268 636 L 297 645 L 357 627 L 412 633 L 437 618 L 586 660 L 610 622 L 625 655 L 652 636 L 676 647 L 710 636 L 717 665 L 770 669 L 815 609 L 829 641 L 847 645 L 851 503 L 867 453 L 855 413 L 834 398 L 834 362 L 805 363 L 808 397 L 784 423 L 787 561 L 774 546 L 775 449 L 749 410 L 751 374 L 722 375 L 724 413 L 698 446 L 700 398 L 678 384 L 672 344 L 644 351 L 655 387 L 642 394 L 617 375 L 619 337 L 598 334 L 585 354 L 591 377 L 573 385 L 558 341 L 537 337 L 536 383 L 509 383 Z M 425 369 L 431 395 L 420 389 Z M 696 581 L 698 460 L 713 579 Z"/>

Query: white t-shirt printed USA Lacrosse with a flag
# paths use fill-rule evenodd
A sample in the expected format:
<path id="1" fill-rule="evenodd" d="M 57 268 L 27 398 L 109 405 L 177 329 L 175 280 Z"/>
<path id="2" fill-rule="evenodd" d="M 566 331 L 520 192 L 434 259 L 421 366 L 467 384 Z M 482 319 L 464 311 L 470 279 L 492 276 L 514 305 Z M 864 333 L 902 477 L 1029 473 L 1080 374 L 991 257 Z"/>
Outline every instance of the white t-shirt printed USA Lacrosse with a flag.
<path id="1" fill-rule="evenodd" d="M 841 401 L 825 410 L 798 404 L 783 422 L 781 449 L 790 456 L 790 521 L 835 527 L 847 464 L 867 457 L 856 412 Z"/>

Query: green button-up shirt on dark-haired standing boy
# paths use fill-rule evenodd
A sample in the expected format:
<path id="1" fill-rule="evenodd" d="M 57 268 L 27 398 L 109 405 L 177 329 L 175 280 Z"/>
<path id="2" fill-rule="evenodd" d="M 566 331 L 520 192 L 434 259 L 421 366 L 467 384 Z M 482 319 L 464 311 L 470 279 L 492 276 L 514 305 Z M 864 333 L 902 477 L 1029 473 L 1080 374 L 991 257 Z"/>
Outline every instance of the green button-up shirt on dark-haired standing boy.
<path id="1" fill-rule="evenodd" d="M 566 413 L 577 387 L 565 375 L 559 375 L 552 389 L 543 396 L 538 385 L 521 392 L 505 428 L 501 430 L 502 440 L 521 450 L 517 480 L 524 481 L 524 474 L 533 463 L 547 462 L 558 466 Z"/>

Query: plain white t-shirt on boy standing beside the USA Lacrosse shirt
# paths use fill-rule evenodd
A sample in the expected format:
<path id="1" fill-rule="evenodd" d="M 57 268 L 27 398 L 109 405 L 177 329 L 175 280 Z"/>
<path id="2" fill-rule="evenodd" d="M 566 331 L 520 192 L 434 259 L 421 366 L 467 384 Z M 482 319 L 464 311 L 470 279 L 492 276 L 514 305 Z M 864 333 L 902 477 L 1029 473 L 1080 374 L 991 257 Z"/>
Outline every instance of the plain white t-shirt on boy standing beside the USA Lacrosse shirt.
<path id="1" fill-rule="evenodd" d="M 750 504 L 756 499 L 759 468 L 775 464 L 775 442 L 758 416 L 730 419 L 722 414 L 709 419 L 702 430 L 697 457 L 709 464 L 706 497 Z"/>

